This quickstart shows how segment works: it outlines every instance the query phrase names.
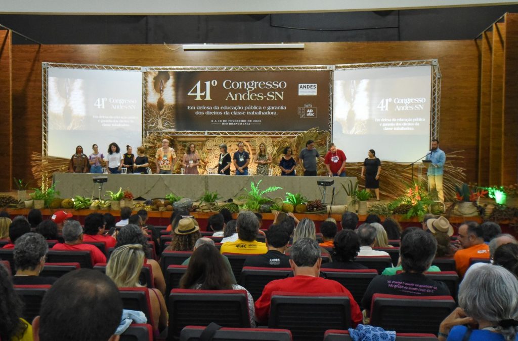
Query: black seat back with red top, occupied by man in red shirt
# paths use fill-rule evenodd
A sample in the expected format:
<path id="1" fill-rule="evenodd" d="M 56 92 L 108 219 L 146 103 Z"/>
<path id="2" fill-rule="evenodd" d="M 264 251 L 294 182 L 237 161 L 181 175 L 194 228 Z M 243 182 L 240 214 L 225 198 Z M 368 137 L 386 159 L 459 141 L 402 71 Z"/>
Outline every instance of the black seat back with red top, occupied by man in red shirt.
<path id="1" fill-rule="evenodd" d="M 328 329 L 347 330 L 350 326 L 351 305 L 346 294 L 272 293 L 268 328 L 290 330 L 296 341 L 321 340 Z"/>

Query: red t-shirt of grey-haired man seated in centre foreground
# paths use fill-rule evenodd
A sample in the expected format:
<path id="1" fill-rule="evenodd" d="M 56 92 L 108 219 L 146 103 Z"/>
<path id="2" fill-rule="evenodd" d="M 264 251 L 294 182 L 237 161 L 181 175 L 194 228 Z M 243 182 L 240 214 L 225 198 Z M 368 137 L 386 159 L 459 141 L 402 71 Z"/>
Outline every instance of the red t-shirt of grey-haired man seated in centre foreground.
<path id="1" fill-rule="evenodd" d="M 353 328 L 362 322 L 362 312 L 359 310 L 358 304 L 354 301 L 353 295 L 342 284 L 330 279 L 311 276 L 295 276 L 285 279 L 278 279 L 266 284 L 263 294 L 255 302 L 255 316 L 261 323 L 268 322 L 270 313 L 271 294 L 274 291 L 284 291 L 290 293 L 344 293 L 349 296 L 351 303 L 351 320 Z"/>

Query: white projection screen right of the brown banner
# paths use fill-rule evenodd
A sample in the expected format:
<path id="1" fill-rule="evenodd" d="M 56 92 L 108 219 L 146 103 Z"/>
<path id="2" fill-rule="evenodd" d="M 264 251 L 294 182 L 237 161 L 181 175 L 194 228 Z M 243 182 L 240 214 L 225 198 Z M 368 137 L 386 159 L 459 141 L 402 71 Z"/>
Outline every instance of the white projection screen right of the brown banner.
<path id="1" fill-rule="evenodd" d="M 369 149 L 413 162 L 429 150 L 430 102 L 430 65 L 335 70 L 333 141 L 350 162 Z"/>

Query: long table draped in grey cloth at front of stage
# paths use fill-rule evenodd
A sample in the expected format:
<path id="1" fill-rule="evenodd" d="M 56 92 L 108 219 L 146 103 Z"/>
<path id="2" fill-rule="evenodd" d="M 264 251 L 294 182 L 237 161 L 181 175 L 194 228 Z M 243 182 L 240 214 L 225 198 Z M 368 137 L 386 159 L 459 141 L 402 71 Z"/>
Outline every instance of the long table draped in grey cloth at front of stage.
<path id="1" fill-rule="evenodd" d="M 261 182 L 260 189 L 269 186 L 279 186 L 275 192 L 268 193 L 270 198 L 284 198 L 286 192 L 300 193 L 308 200 L 322 199 L 322 187 L 316 184 L 319 179 L 335 180 L 334 204 L 346 203 L 347 194 L 342 185 L 356 182 L 355 176 L 347 178 L 327 178 L 322 176 L 236 176 L 236 175 L 186 175 L 186 174 L 90 174 L 90 173 L 55 173 L 53 181 L 61 198 L 72 198 L 76 195 L 83 197 L 98 197 L 98 184 L 93 183 L 94 176 L 108 176 L 108 182 L 103 184 L 103 196 L 106 190 L 117 192 L 119 188 L 130 189 L 135 198 L 145 199 L 164 198 L 169 193 L 194 201 L 206 191 L 217 191 L 222 200 L 239 197 L 250 191 L 250 183 Z M 326 202 L 331 201 L 333 186 L 327 187 Z M 107 199 L 107 197 L 103 197 Z"/>

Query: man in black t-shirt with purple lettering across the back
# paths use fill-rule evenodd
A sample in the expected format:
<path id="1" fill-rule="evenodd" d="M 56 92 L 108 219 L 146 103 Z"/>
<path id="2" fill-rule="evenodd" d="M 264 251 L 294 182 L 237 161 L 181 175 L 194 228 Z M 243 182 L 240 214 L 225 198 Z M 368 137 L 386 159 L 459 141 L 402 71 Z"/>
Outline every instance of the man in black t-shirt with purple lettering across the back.
<path id="1" fill-rule="evenodd" d="M 399 250 L 403 272 L 393 276 L 381 275 L 373 278 L 363 296 L 363 307 L 367 310 L 370 308 L 373 294 L 450 295 L 446 284 L 431 280 L 423 274 L 430 267 L 437 251 L 437 241 L 433 236 L 421 230 L 412 231 L 403 237 Z M 398 285 L 394 285 L 395 282 Z"/>

